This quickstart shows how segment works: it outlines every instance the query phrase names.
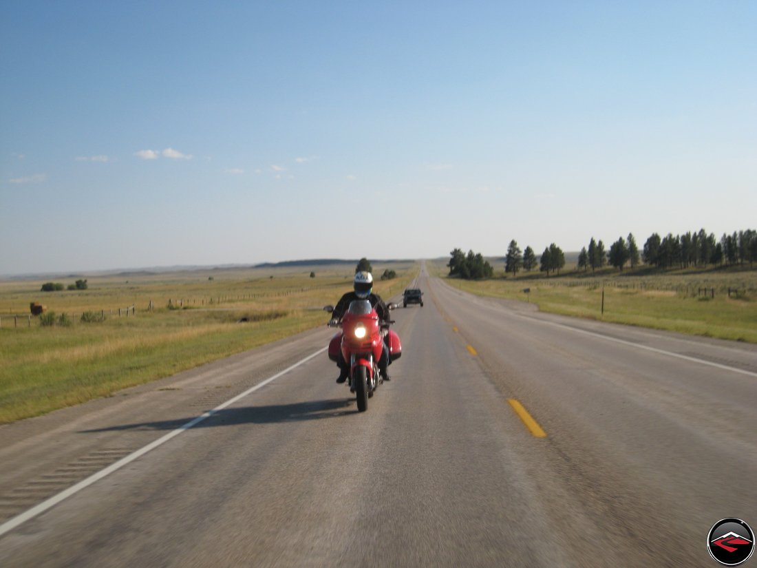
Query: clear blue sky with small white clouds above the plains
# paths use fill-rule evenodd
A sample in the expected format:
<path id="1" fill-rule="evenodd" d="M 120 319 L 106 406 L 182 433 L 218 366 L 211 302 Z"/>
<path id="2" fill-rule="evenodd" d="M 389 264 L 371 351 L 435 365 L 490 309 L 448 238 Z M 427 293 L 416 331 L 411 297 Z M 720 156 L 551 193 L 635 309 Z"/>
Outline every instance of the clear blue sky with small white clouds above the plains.
<path id="1" fill-rule="evenodd" d="M 755 2 L 5 2 L 0 275 L 757 229 Z"/>

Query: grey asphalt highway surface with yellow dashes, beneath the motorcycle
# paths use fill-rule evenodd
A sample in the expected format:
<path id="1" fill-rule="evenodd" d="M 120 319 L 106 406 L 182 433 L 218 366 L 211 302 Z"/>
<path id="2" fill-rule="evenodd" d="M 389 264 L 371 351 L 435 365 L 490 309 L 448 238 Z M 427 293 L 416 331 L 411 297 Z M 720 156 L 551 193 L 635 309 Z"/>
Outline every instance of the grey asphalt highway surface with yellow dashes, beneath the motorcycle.
<path id="1" fill-rule="evenodd" d="M 365 413 L 324 326 L 0 427 L 0 566 L 717 566 L 757 527 L 754 345 L 417 284 Z"/>

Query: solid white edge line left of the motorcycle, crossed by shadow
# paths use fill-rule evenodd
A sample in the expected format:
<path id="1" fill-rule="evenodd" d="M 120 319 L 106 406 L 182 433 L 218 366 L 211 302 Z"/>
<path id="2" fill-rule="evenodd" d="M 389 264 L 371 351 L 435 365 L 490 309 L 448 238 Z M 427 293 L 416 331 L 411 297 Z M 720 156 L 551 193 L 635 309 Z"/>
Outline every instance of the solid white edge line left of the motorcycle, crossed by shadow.
<path id="1" fill-rule="evenodd" d="M 299 360 L 297 363 L 295 363 L 291 367 L 287 367 L 285 370 L 282 370 L 281 372 L 276 373 L 276 375 L 269 377 L 263 382 L 257 383 L 257 385 L 254 385 L 254 387 L 251 387 L 250 389 L 247 389 L 245 392 L 242 392 L 241 395 L 236 395 L 234 398 L 229 398 L 228 401 L 224 402 L 223 404 L 220 404 L 220 406 L 213 408 L 213 410 L 208 410 L 206 413 L 201 414 L 200 416 L 190 420 L 184 426 L 180 426 L 179 428 L 173 430 L 173 432 L 169 432 L 166 435 L 164 435 L 162 438 L 158 438 L 154 442 L 151 442 L 150 444 L 146 445 L 144 448 L 140 448 L 134 453 L 129 454 L 128 456 L 123 457 L 122 459 L 118 460 L 116 463 L 112 463 L 110 466 L 106 467 L 104 470 L 100 470 L 98 471 L 98 473 L 93 473 L 87 479 L 83 479 L 82 481 L 76 483 L 76 485 L 71 485 L 69 488 L 64 489 L 64 491 L 58 493 L 58 495 L 53 495 L 48 500 L 42 501 L 42 503 L 40 503 L 39 505 L 36 505 L 35 507 L 32 507 L 31 509 L 24 511 L 23 513 L 20 513 L 16 517 L 13 517 L 11 520 L 8 520 L 5 523 L 2 523 L 2 525 L 0 525 L 0 537 L 2 537 L 2 535 L 5 535 L 6 532 L 10 532 L 11 530 L 15 529 L 17 526 L 20 526 L 23 523 L 26 523 L 27 520 L 33 519 L 34 517 L 36 517 L 37 515 L 41 513 L 44 513 L 46 510 L 50 509 L 51 507 L 55 507 L 55 505 L 57 505 L 61 501 L 64 501 L 64 499 L 69 498 L 71 495 L 75 495 L 76 493 L 80 492 L 82 489 L 89 487 L 89 485 L 92 485 L 95 482 L 98 482 L 100 479 L 104 478 L 105 476 L 109 476 L 111 473 L 114 473 L 114 471 L 120 470 L 125 465 L 132 463 L 132 461 L 136 460 L 138 457 L 142 457 L 143 455 L 147 454 L 148 451 L 152 451 L 158 446 L 164 445 L 171 438 L 175 438 L 177 435 L 181 434 L 182 432 L 186 432 L 188 429 L 192 428 L 192 426 L 197 426 L 203 420 L 210 418 L 211 416 L 213 416 L 213 414 L 216 414 L 219 410 L 223 410 L 229 405 L 234 404 L 235 402 L 239 401 L 241 398 L 245 398 L 246 396 L 251 395 L 253 392 L 257 391 L 257 389 L 262 389 L 269 382 L 275 381 L 280 376 L 285 375 L 289 371 L 299 367 L 301 364 L 306 363 L 313 357 L 316 357 L 317 355 L 322 354 L 322 352 L 326 351 L 326 349 L 328 348 L 329 347 L 326 346 L 322 349 L 319 349 L 315 353 L 310 354 L 304 359 Z"/>

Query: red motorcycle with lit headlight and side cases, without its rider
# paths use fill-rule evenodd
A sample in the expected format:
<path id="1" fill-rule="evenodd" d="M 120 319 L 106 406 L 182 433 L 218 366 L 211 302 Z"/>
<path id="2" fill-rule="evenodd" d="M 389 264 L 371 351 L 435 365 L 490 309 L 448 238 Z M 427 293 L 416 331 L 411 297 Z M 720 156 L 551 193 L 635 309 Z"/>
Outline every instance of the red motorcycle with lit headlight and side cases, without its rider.
<path id="1" fill-rule="evenodd" d="M 333 310 L 332 306 L 326 306 L 326 311 Z M 378 372 L 378 360 L 384 352 L 385 342 L 388 348 L 387 364 L 402 355 L 400 337 L 389 329 L 392 323 L 392 320 L 379 321 L 378 314 L 368 300 L 353 300 L 341 322 L 335 324 L 341 327 L 341 332 L 334 335 L 329 343 L 329 359 L 337 361 L 341 353 L 344 361 L 350 364 L 347 385 L 350 386 L 350 392 L 355 393 L 357 410 L 360 412 L 365 412 L 368 399 L 373 396 L 378 385 L 384 382 Z"/>

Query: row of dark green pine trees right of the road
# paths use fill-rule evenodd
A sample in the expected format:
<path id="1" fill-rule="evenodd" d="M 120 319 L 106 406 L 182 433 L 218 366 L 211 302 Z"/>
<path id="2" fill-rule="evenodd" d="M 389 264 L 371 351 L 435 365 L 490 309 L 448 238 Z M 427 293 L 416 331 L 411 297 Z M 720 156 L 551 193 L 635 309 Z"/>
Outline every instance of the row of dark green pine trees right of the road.
<path id="1" fill-rule="evenodd" d="M 494 269 L 479 253 L 469 251 L 466 255 L 459 248 L 450 252 L 450 276 L 460 276 L 465 279 L 491 278 Z M 724 233 L 721 239 L 716 239 L 714 233 L 707 233 L 705 229 L 673 236 L 668 233 L 660 237 L 653 233 L 646 239 L 640 249 L 633 233 L 628 233 L 625 239 L 621 236 L 613 242 L 609 250 L 602 239 L 591 237 L 589 244 L 581 248 L 578 253 L 578 270 L 597 270 L 606 266 L 618 270 L 628 265 L 631 268 L 643 264 L 658 268 L 686 268 L 690 266 L 705 266 L 708 264 L 747 264 L 752 267 L 757 261 L 757 231 L 746 229 L 734 231 L 730 235 Z M 558 273 L 565 267 L 565 254 L 555 243 L 544 248 L 538 259 L 539 270 L 547 273 Z M 515 239 L 510 241 L 505 256 L 505 273 L 516 276 L 520 270 L 530 271 L 537 266 L 534 250 L 527 246 L 521 251 Z"/>

